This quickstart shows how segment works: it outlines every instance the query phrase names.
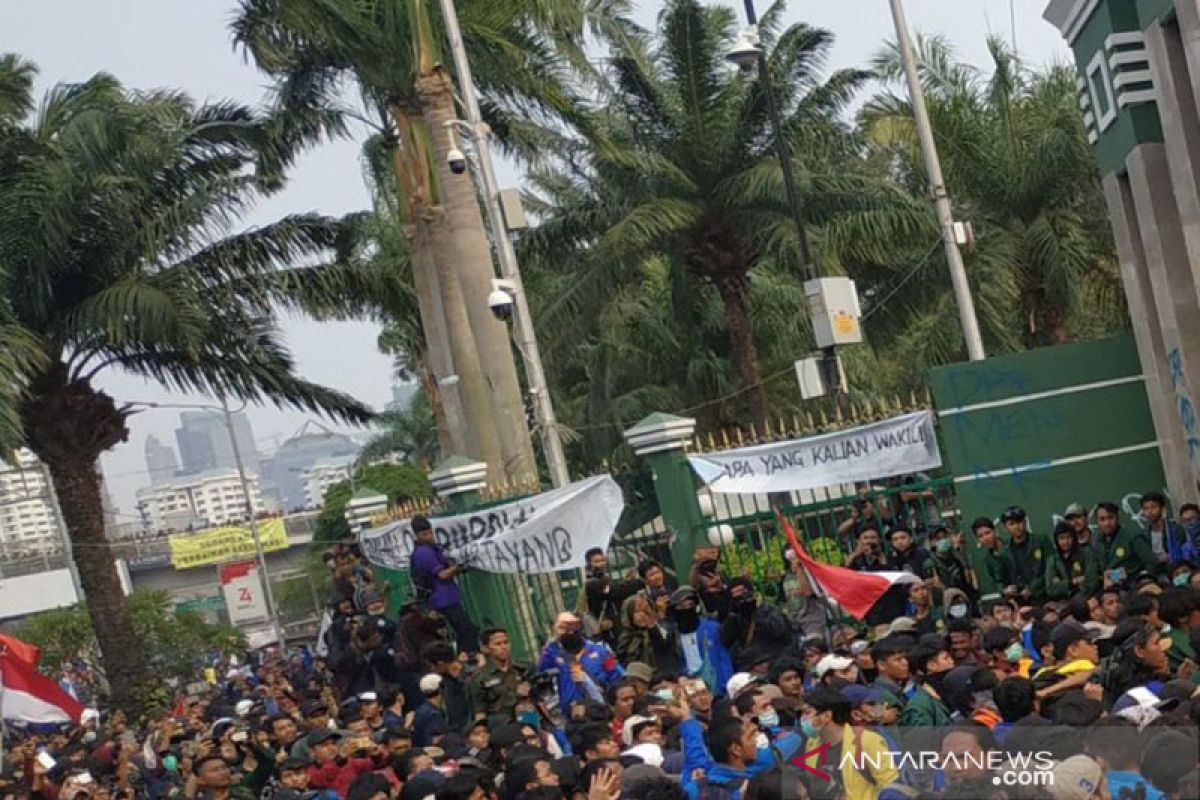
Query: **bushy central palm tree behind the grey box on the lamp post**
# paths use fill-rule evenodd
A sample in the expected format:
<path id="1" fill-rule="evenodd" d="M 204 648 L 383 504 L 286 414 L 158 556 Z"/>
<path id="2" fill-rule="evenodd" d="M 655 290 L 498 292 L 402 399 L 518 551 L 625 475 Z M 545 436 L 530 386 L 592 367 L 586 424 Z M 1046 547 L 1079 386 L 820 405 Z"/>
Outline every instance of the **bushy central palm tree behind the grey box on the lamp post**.
<path id="1" fill-rule="evenodd" d="M 895 193 L 859 169 L 859 145 L 839 119 L 866 73 L 845 70 L 822 79 L 832 35 L 803 24 L 780 30 L 782 8 L 778 2 L 768 10 L 760 29 L 820 249 L 829 221 L 872 212 Z M 670 335 L 662 330 L 626 344 L 636 350 L 677 341 L 683 361 L 676 363 L 688 380 L 673 385 L 703 385 L 700 395 L 709 399 L 734 392 L 737 405 L 761 426 L 769 403 L 760 347 L 769 326 L 756 317 L 769 303 L 756 283 L 775 293 L 787 287 L 794 301 L 784 320 L 773 320 L 798 333 L 792 360 L 809 338 L 774 128 L 757 77 L 725 60 L 737 30 L 728 8 L 671 0 L 656 30 L 648 47 L 634 41 L 617 48 L 613 88 L 604 97 L 608 113 L 592 140 L 534 175 L 530 205 L 544 224 L 528 237 L 528 252 L 545 264 L 569 265 L 547 267 L 565 275 L 542 313 L 566 312 L 608 342 L 593 351 L 607 366 L 596 362 L 592 371 L 611 375 L 610 354 L 620 350 L 611 345 L 612 318 L 600 315 L 618 306 L 605 301 L 644 311 L 640 301 L 655 296 L 679 324 L 662 320 Z M 832 255 L 822 266 L 840 269 Z M 625 294 L 640 285 L 647 287 L 642 296 Z M 721 308 L 715 319 L 714 296 Z M 721 342 L 712 339 L 714 323 Z M 661 374 L 664 362 L 647 368 Z"/>

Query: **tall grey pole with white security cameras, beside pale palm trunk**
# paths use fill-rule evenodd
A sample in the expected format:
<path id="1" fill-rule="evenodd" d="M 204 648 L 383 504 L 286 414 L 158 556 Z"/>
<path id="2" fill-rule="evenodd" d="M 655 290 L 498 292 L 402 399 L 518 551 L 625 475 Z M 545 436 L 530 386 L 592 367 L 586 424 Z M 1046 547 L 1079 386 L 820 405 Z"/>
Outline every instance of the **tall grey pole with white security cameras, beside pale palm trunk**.
<path id="1" fill-rule="evenodd" d="M 479 157 L 479 176 L 482 184 L 484 205 L 487 213 L 487 222 L 492 228 L 492 239 L 496 241 L 500 275 L 504 279 L 510 281 L 512 285 L 512 301 L 516 306 L 514 325 L 517 349 L 521 351 L 521 357 L 524 361 L 526 378 L 529 381 L 529 393 L 533 397 L 534 413 L 538 416 L 538 423 L 541 428 L 541 444 L 546 456 L 546 465 L 550 468 L 550 477 L 553 485 L 556 487 L 565 486 L 570 482 L 571 477 L 566 469 L 563 441 L 558 434 L 558 420 L 554 416 L 554 404 L 550 396 L 550 384 L 546 380 L 546 372 L 541 363 L 541 353 L 538 349 L 538 337 L 533 329 L 533 314 L 529 312 L 529 300 L 521 283 L 521 269 L 517 264 L 516 251 L 512 248 L 508 228 L 504 224 L 504 216 L 500 212 L 499 186 L 496 180 L 496 169 L 492 166 L 492 152 L 488 144 L 491 130 L 484 122 L 482 114 L 479 110 L 479 97 L 475 92 L 475 82 L 472 78 L 470 64 L 467 60 L 467 49 L 463 47 L 462 30 L 458 28 L 458 13 L 455 10 L 454 0 L 439 0 L 439 2 L 442 16 L 445 18 L 446 36 L 450 40 L 450 52 L 454 55 L 455 71 L 458 73 L 458 92 L 462 96 L 463 113 L 475 143 L 475 154 Z"/>

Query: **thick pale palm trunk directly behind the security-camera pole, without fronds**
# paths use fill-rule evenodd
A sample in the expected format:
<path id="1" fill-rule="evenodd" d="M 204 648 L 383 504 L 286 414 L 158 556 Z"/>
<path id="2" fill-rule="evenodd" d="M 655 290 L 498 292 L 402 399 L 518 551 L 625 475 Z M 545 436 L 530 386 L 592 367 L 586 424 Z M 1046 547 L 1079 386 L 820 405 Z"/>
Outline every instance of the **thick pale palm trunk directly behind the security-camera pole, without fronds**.
<path id="1" fill-rule="evenodd" d="M 418 94 L 436 152 L 442 205 L 446 223 L 454 231 L 445 242 L 448 248 L 438 251 L 438 260 L 452 259 L 451 263 L 458 267 L 467 317 L 491 392 L 504 474 L 514 482 L 528 480 L 536 476 L 538 467 L 526 425 L 521 381 L 512 357 L 509 329 L 487 307 L 496 269 L 479 209 L 479 196 L 469 175 L 455 175 L 446 166 L 450 137 L 445 131 L 445 122 L 458 119 L 454 84 L 446 72 L 438 67 L 419 78 Z"/>

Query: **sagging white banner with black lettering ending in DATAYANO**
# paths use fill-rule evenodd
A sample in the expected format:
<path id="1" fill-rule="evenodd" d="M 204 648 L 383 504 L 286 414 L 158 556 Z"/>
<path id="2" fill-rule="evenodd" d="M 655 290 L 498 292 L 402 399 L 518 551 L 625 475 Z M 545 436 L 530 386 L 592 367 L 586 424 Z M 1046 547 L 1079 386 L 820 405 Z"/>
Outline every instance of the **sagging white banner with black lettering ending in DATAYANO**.
<path id="1" fill-rule="evenodd" d="M 625 506 L 608 476 L 482 511 L 433 517 L 433 535 L 445 554 L 485 572 L 539 573 L 577 570 L 593 547 L 608 549 Z M 413 553 L 408 519 L 362 531 L 362 554 L 372 564 L 407 570 Z"/>

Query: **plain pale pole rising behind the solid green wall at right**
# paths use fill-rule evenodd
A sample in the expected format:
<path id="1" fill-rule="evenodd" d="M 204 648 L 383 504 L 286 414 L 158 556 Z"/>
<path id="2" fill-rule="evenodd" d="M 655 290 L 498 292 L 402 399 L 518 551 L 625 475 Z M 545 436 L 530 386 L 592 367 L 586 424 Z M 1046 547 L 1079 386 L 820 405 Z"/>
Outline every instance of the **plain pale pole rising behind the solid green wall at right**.
<path id="1" fill-rule="evenodd" d="M 749 2 L 750 0 L 746 0 Z M 934 140 L 934 126 L 929 121 L 929 109 L 925 107 L 925 91 L 920 85 L 917 71 L 917 56 L 913 53 L 912 40 L 908 37 L 908 19 L 904 12 L 904 0 L 890 0 L 892 19 L 896 26 L 896 43 L 900 47 L 900 60 L 904 61 L 904 73 L 908 82 L 908 95 L 912 98 L 912 116 L 917 125 L 917 137 L 925 156 L 925 169 L 929 173 L 929 190 L 934 194 L 937 207 L 937 223 L 942 229 L 942 243 L 946 247 L 946 260 L 950 264 L 950 284 L 954 287 L 954 300 L 959 306 L 959 323 L 962 326 L 962 338 L 967 344 L 967 359 L 982 361 L 985 356 L 983 336 L 979 335 L 979 320 L 976 317 L 974 299 L 971 296 L 971 283 L 962 264 L 958 237 L 954 233 L 954 210 L 950 207 L 950 196 L 946 191 L 946 179 L 942 176 L 942 162 L 937 157 L 937 143 Z"/>

